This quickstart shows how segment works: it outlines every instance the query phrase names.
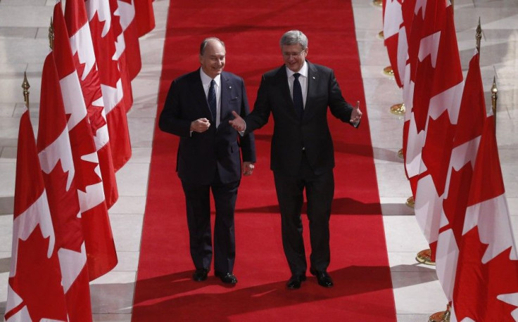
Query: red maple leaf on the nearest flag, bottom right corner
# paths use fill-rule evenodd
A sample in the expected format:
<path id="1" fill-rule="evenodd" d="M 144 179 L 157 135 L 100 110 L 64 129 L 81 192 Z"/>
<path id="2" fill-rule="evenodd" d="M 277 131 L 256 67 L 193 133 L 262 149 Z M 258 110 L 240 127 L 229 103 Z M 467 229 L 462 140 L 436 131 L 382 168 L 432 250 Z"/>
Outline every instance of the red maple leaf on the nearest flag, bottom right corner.
<path id="1" fill-rule="evenodd" d="M 484 214 L 492 215 L 492 214 Z M 458 321 L 514 321 L 512 304 L 498 300 L 498 295 L 518 292 L 518 261 L 510 259 L 511 247 L 486 264 L 482 263 L 488 244 L 481 243 L 478 226 L 463 236 L 453 306 Z"/>

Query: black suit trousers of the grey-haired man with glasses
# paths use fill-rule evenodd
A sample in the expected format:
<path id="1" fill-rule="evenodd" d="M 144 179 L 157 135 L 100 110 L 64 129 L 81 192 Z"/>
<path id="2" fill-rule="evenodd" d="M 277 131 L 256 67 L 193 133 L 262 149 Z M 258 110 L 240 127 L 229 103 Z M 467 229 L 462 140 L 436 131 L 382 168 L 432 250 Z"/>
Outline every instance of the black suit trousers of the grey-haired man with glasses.
<path id="1" fill-rule="evenodd" d="M 302 159 L 297 176 L 274 172 L 281 211 L 282 245 L 292 275 L 305 275 L 307 269 L 301 220 L 304 188 L 308 200 L 311 267 L 325 271 L 330 262 L 329 218 L 334 195 L 333 169 L 315 174 L 305 153 Z"/>

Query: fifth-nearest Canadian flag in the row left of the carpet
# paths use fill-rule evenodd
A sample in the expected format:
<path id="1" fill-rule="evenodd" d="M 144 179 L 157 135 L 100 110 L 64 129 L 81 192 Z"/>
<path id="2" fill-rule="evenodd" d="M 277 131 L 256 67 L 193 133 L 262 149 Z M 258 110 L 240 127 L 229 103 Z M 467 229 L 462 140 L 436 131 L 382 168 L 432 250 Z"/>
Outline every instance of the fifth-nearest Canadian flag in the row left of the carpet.
<path id="1" fill-rule="evenodd" d="M 80 18 L 89 20 L 108 121 L 113 167 L 117 171 L 130 160 L 132 149 L 127 127 L 124 85 L 120 64 L 116 59 L 110 4 L 108 0 L 87 0 L 84 4 L 87 17 Z"/>

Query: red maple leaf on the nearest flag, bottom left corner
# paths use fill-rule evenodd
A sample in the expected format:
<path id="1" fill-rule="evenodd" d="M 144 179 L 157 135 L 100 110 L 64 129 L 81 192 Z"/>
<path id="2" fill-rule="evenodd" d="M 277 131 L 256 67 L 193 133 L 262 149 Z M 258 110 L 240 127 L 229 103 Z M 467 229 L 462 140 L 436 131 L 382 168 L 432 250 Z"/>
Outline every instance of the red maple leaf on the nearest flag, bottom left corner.
<path id="1" fill-rule="evenodd" d="M 58 257 L 53 252 L 47 258 L 48 248 L 49 238 L 42 236 L 39 225 L 27 240 L 18 240 L 16 273 L 9 285 L 23 300 L 32 321 L 67 321 Z"/>

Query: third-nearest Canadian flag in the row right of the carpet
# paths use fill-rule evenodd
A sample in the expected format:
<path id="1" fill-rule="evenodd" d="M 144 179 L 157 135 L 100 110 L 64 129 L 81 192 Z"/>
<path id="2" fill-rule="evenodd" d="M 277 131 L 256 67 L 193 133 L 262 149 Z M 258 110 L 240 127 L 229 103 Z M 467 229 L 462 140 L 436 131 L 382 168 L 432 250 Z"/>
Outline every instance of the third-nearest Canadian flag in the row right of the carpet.
<path id="1" fill-rule="evenodd" d="M 413 136 L 409 134 L 408 145 L 422 147 L 417 155 L 420 164 L 415 217 L 434 254 L 464 84 L 453 6 L 439 0 L 430 13 L 436 27 L 431 27 L 434 32 L 422 38 L 419 46 L 412 115 L 415 128 L 410 131 Z"/>

